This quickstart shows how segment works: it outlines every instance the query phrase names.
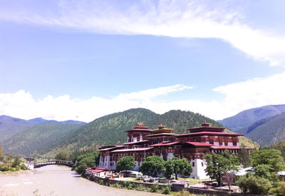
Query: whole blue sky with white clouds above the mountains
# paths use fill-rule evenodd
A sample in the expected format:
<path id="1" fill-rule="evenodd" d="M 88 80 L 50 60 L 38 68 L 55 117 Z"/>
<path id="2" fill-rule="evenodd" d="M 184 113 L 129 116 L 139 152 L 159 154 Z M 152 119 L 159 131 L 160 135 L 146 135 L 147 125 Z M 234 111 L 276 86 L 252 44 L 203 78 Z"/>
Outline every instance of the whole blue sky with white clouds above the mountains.
<path id="1" fill-rule="evenodd" d="M 285 104 L 285 1 L 0 0 L 0 115 L 214 120 Z"/>

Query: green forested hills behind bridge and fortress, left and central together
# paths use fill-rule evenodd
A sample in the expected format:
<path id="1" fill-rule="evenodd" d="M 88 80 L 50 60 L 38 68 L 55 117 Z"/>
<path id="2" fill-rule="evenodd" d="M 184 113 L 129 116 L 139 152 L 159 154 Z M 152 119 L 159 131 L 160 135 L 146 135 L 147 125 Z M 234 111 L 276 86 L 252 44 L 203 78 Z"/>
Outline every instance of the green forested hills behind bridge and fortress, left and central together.
<path id="1" fill-rule="evenodd" d="M 43 155 L 53 158 L 60 150 L 123 144 L 127 138 L 123 131 L 133 128 L 140 122 L 151 129 L 165 125 L 167 128 L 173 128 L 173 133 L 187 133 L 187 128 L 199 126 L 203 122 L 222 126 L 204 115 L 190 111 L 170 110 L 160 115 L 144 108 L 135 108 L 105 115 L 86 125 L 53 122 L 35 125 L 4 140 L 3 149 L 5 153 L 14 155 Z M 251 147 L 259 146 L 244 137 L 240 137 L 240 143 Z"/>

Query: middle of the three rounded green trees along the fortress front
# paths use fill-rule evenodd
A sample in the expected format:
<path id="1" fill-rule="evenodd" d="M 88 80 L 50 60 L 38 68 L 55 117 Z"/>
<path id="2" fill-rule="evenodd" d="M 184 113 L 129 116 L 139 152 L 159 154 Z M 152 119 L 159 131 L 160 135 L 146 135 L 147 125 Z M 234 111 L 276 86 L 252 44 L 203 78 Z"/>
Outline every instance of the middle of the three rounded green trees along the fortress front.
<path id="1" fill-rule="evenodd" d="M 156 155 L 147 157 L 142 161 L 140 172 L 143 175 L 157 177 L 157 174 L 165 172 L 165 160 Z"/>

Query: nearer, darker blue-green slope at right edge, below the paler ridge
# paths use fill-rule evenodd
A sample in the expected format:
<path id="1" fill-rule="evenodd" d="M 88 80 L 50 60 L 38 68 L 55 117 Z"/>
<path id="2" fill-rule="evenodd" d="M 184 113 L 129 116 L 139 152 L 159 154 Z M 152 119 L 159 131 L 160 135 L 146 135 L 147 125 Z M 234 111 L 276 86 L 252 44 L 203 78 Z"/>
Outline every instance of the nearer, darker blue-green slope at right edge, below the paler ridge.
<path id="1" fill-rule="evenodd" d="M 261 146 L 279 143 L 285 140 L 285 113 L 259 120 L 243 131 Z"/>

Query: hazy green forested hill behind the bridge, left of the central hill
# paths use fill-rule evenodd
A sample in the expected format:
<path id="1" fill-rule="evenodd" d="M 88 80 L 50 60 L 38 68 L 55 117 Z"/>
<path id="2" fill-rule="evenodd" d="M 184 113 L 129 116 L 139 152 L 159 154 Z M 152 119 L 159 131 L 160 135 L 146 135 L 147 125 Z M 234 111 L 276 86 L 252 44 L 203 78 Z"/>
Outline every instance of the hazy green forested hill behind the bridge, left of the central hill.
<path id="1" fill-rule="evenodd" d="M 41 155 L 55 148 L 55 143 L 73 133 L 82 125 L 42 123 L 27 128 L 2 143 L 6 154 Z"/>

